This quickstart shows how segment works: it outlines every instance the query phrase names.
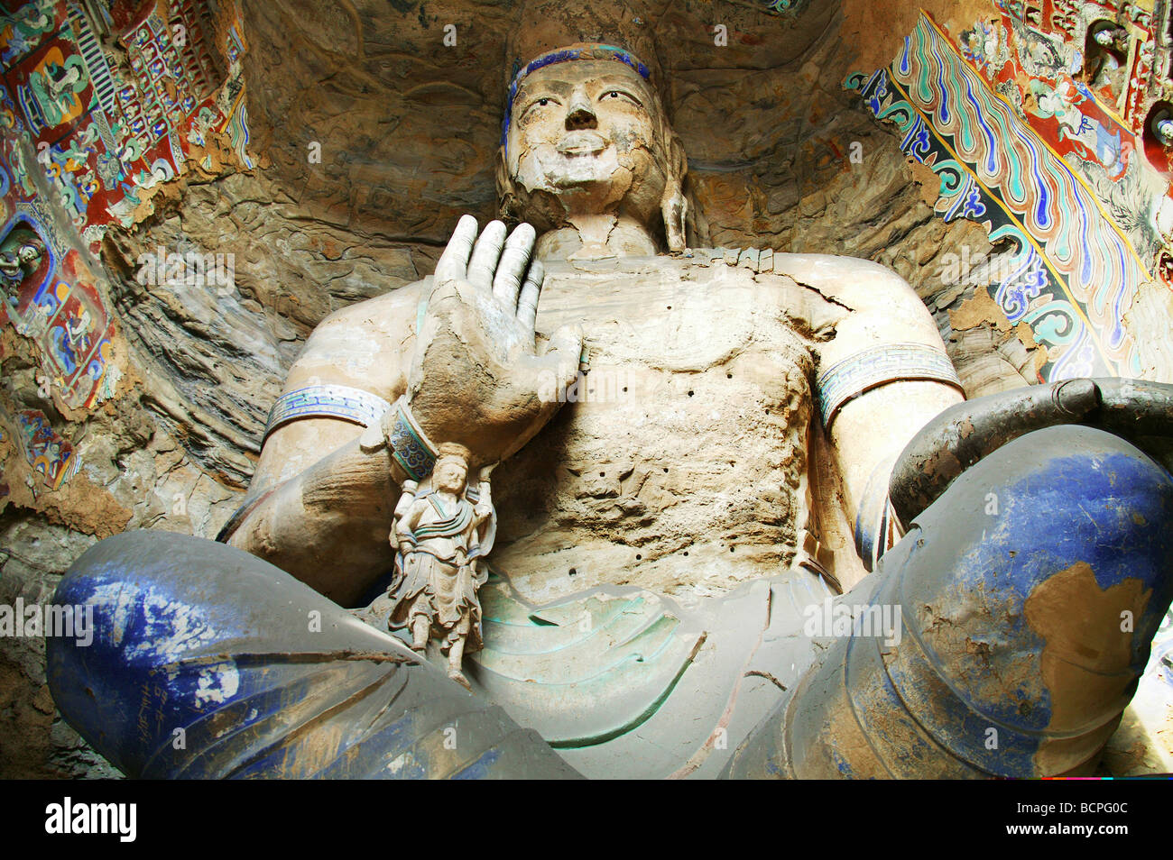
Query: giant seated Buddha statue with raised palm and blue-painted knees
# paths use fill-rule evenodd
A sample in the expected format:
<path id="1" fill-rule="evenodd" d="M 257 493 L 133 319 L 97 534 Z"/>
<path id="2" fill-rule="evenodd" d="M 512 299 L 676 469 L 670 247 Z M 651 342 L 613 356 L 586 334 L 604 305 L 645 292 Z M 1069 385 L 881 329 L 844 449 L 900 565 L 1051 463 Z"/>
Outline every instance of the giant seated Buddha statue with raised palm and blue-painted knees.
<path id="1" fill-rule="evenodd" d="M 602 43 L 522 64 L 503 220 L 316 328 L 221 542 L 122 534 L 74 565 L 55 600 L 95 607 L 94 643 L 50 641 L 50 689 L 115 765 L 1096 766 L 1173 598 L 1171 387 L 965 401 L 891 271 L 690 247 L 656 75 Z M 380 598 L 404 487 L 453 446 L 463 504 L 496 469 L 461 678 Z"/>

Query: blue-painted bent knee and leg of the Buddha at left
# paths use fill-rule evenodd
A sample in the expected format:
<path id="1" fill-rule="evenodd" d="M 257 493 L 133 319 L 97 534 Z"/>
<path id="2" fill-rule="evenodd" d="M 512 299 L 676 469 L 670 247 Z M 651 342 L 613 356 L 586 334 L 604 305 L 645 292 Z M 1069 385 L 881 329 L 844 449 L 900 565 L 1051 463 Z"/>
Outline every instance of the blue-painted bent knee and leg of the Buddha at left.
<path id="1" fill-rule="evenodd" d="M 109 538 L 54 602 L 91 607 L 93 630 L 48 640 L 53 697 L 131 777 L 574 773 L 393 637 L 223 544 Z"/>

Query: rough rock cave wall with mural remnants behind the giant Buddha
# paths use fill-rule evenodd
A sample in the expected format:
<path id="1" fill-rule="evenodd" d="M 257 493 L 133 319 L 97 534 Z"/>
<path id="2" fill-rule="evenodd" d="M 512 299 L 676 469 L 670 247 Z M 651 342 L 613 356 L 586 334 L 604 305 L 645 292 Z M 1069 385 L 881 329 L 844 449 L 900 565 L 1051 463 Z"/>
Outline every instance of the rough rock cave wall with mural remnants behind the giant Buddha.
<path id="1" fill-rule="evenodd" d="M 77 554 L 124 528 L 213 535 L 313 326 L 429 273 L 460 214 L 494 217 L 517 52 L 615 15 L 646 28 L 712 245 L 894 267 L 970 396 L 1086 367 L 1168 380 L 1169 171 L 1145 137 L 1166 97 L 1167 22 L 1144 2 L 1131 8 L 1148 23 L 1125 29 L 1157 45 L 1147 76 L 1134 64 L 1103 86 L 1083 81 L 1079 27 L 1124 13 L 1090 2 L 1045 0 L 1032 18 L 1001 0 L 657 0 L 522 27 L 533 7 L 0 0 L 0 250 L 43 246 L 0 306 L 0 603 L 43 603 Z M 1083 23 L 1057 28 L 1070 8 Z M 1001 173 L 981 175 L 981 153 L 956 144 L 965 128 L 942 116 L 956 94 L 925 82 L 928 66 L 903 70 L 929 43 L 985 94 L 971 137 L 992 128 L 999 158 L 1012 136 L 1042 142 L 1018 175 L 1058 232 L 999 207 Z M 1108 105 L 1113 86 L 1124 102 Z M 1076 132 L 1076 111 L 1119 141 L 1114 161 L 1105 134 Z M 1094 210 L 1090 232 L 1070 200 Z M 1063 236 L 1092 243 L 1099 287 L 1063 267 Z M 107 773 L 55 715 L 43 642 L 0 637 L 0 777 Z"/>

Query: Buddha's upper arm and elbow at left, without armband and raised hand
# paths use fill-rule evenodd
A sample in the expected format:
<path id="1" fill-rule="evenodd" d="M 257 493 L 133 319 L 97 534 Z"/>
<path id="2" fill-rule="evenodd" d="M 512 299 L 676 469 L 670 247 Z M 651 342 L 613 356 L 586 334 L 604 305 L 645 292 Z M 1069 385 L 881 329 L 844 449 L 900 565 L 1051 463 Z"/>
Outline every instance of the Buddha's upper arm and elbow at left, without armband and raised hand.
<path id="1" fill-rule="evenodd" d="M 387 303 L 323 322 L 291 368 L 283 397 L 312 385 L 345 385 L 387 401 L 401 394 L 414 322 L 402 320 L 414 300 Z M 357 600 L 391 565 L 388 535 L 407 479 L 385 445 L 360 444 L 362 434 L 361 425 L 333 417 L 273 429 L 228 542 L 333 600 Z"/>

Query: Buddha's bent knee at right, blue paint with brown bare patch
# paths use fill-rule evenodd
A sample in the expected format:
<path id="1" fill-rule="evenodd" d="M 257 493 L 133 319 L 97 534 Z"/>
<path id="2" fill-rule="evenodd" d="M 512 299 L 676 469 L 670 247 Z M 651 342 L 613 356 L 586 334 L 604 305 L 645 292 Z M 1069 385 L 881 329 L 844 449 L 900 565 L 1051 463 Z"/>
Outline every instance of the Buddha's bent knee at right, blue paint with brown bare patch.
<path id="1" fill-rule="evenodd" d="M 834 639 L 727 773 L 1090 770 L 1171 596 L 1169 473 L 1099 430 L 1029 434 L 958 478 L 840 599 L 895 632 Z"/>

